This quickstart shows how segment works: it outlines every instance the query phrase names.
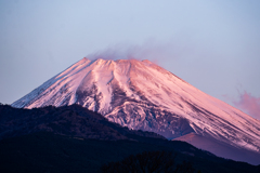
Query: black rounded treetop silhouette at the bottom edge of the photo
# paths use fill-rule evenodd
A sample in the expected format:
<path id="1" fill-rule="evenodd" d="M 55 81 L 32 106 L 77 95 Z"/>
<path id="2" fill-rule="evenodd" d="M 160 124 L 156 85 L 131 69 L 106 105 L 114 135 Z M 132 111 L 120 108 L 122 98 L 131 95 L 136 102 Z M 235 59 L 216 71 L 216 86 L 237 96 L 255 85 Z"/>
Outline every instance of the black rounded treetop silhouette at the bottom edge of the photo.
<path id="1" fill-rule="evenodd" d="M 191 162 L 177 164 L 170 151 L 144 151 L 101 168 L 103 173 L 194 173 Z"/>

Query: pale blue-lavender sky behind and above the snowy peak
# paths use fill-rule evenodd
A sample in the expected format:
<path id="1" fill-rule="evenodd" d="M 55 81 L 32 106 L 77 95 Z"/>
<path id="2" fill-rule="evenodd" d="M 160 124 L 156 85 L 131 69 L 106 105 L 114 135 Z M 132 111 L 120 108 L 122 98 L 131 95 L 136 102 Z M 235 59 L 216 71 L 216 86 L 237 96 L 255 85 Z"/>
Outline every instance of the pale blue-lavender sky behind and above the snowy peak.
<path id="1" fill-rule="evenodd" d="M 259 0 L 0 0 L 0 103 L 83 57 L 150 59 L 260 119 Z"/>

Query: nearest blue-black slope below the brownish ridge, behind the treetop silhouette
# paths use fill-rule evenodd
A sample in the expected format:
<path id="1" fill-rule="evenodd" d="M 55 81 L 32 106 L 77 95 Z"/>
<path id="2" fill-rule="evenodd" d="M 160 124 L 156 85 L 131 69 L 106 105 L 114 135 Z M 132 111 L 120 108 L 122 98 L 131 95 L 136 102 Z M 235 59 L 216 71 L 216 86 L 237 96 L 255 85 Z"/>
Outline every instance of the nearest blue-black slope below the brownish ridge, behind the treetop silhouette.
<path id="1" fill-rule="evenodd" d="M 143 151 L 166 150 L 176 163 L 203 173 L 257 173 L 259 167 L 214 157 L 184 142 L 79 139 L 38 132 L 0 141 L 0 172 L 99 172 L 101 165 Z"/>

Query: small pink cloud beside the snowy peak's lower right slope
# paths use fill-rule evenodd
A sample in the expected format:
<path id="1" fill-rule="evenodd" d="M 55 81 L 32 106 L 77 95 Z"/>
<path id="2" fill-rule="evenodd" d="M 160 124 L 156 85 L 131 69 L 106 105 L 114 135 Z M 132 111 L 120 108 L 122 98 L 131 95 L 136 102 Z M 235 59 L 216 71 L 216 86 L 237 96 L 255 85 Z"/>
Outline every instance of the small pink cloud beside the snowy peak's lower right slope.
<path id="1" fill-rule="evenodd" d="M 244 91 L 244 93 L 239 95 L 239 101 L 233 101 L 233 104 L 251 117 L 260 120 L 260 97 L 255 97 Z"/>

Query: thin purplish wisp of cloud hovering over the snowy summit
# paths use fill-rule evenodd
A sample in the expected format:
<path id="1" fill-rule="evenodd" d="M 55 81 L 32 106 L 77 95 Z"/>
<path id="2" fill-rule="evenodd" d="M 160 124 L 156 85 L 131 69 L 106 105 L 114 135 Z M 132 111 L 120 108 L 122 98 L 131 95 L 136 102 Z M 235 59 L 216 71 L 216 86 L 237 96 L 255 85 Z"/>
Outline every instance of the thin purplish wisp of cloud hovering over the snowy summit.
<path id="1" fill-rule="evenodd" d="M 161 64 L 167 59 L 179 58 L 186 53 L 186 46 L 188 45 L 185 42 L 178 39 L 164 42 L 148 39 L 143 44 L 118 43 L 86 57 L 90 59 L 150 59 L 153 63 Z"/>

